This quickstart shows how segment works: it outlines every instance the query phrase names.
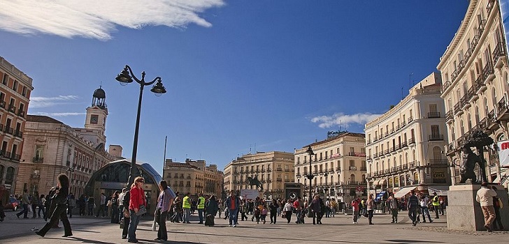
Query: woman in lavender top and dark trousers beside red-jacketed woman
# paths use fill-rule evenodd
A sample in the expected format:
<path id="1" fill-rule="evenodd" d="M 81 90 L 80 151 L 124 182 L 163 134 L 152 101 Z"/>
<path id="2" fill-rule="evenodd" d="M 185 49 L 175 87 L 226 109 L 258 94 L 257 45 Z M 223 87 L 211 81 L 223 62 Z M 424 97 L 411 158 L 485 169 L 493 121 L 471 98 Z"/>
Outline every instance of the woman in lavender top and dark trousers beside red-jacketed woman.
<path id="1" fill-rule="evenodd" d="M 157 230 L 156 241 L 168 241 L 168 233 L 166 233 L 166 217 L 175 199 L 175 192 L 169 188 L 166 181 L 159 181 L 159 197 L 157 197 L 157 207 L 155 209 L 155 219 L 159 225 Z"/>

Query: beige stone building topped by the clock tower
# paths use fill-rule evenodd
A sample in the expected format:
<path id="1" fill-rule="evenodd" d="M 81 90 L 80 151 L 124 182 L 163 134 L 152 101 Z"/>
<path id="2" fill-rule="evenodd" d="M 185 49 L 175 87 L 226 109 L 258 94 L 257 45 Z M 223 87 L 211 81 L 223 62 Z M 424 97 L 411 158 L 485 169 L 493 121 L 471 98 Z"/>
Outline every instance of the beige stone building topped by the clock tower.
<path id="1" fill-rule="evenodd" d="M 105 151 L 107 115 L 106 94 L 101 88 L 94 91 L 92 105 L 87 108 L 85 128 L 71 128 L 48 116 L 27 115 L 15 192 L 27 189 L 30 194 L 47 194 L 57 184 L 57 176 L 67 174 L 70 192 L 83 194 L 94 171 L 117 160 Z M 122 155 L 122 147 L 113 148 Z"/>

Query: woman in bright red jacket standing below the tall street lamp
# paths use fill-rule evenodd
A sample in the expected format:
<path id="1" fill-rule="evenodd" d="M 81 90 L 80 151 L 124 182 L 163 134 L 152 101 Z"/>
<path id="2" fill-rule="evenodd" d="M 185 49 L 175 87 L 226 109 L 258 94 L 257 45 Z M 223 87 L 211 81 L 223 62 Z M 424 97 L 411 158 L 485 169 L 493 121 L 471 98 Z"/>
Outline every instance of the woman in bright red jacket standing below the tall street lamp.
<path id="1" fill-rule="evenodd" d="M 145 192 L 143 192 L 143 183 L 145 183 L 143 177 L 138 176 L 134 178 L 134 183 L 131 185 L 131 190 L 129 190 L 129 215 L 131 216 L 129 221 L 129 231 L 127 234 L 127 242 L 129 243 L 138 243 L 138 239 L 136 239 L 136 229 L 140 222 L 141 213 L 143 213 L 141 209 L 146 209 L 147 207 Z"/>

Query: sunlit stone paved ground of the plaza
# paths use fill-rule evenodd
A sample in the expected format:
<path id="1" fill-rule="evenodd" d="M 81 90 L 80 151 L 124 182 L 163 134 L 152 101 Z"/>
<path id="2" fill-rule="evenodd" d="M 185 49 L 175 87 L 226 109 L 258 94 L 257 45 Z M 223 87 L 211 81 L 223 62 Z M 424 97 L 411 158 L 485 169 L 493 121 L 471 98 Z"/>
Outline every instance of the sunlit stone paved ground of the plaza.
<path id="1" fill-rule="evenodd" d="M 41 219 L 18 220 L 12 212 L 6 221 L 0 223 L 0 243 L 127 243 L 120 239 L 121 230 L 117 224 L 110 224 L 107 218 L 75 216 L 71 219 L 73 234 L 62 238 L 63 229 L 52 229 L 45 238 L 30 231 L 41 228 Z M 413 227 L 400 213 L 398 224 L 390 223 L 389 215 L 375 215 L 374 225 L 368 225 L 366 218 L 359 224 L 352 224 L 351 215 L 336 215 L 324 218 L 320 225 L 309 224 L 257 224 L 239 221 L 238 227 L 228 227 L 227 220 L 216 218 L 215 227 L 196 224 L 174 224 L 168 222 L 168 243 L 507 243 L 509 231 L 451 231 L 447 229 L 445 216 L 433 223 L 417 224 Z M 280 219 L 279 219 L 280 220 Z M 157 243 L 155 232 L 150 231 L 152 221 L 145 218 L 137 231 L 141 243 Z"/>

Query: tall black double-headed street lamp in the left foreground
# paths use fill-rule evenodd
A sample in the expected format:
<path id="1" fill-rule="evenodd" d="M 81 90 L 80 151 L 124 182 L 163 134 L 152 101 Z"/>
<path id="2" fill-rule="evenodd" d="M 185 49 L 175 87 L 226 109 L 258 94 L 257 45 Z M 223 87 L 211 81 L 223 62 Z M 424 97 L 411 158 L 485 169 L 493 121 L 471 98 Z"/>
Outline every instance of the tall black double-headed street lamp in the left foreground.
<path id="1" fill-rule="evenodd" d="M 134 183 L 134 177 L 136 175 L 136 153 L 138 151 L 138 131 L 140 130 L 140 113 L 141 113 L 141 98 L 143 97 L 143 87 L 150 86 L 151 84 L 154 84 L 157 82 L 154 86 L 152 86 L 153 93 L 156 94 L 156 96 L 161 96 L 161 94 L 166 93 L 166 89 L 164 89 L 164 86 L 162 84 L 161 77 L 155 77 L 155 79 L 152 80 L 152 82 L 145 82 L 145 71 L 141 73 L 141 79 L 136 78 L 136 76 L 133 74 L 133 70 L 131 70 L 131 67 L 126 65 L 124 67 L 124 70 L 120 74 L 117 75 L 115 78 L 120 84 L 126 83 L 129 84 L 133 82 L 133 79 L 140 84 L 140 98 L 138 100 L 138 113 L 136 114 L 136 127 L 134 128 L 134 142 L 133 142 L 133 155 L 131 157 L 131 170 L 129 171 L 129 180 L 127 181 L 127 186 Z"/>

